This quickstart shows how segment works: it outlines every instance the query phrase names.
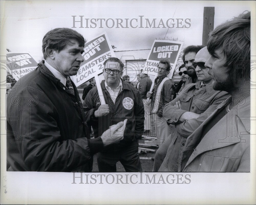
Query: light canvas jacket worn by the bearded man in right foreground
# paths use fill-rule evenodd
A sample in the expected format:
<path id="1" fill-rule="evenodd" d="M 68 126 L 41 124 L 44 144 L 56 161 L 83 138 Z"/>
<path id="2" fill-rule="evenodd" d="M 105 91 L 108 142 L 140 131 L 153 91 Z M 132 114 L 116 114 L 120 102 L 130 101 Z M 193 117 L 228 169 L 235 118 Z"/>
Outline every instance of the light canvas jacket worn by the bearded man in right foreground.
<path id="1" fill-rule="evenodd" d="M 219 105 L 187 138 L 180 171 L 250 172 L 250 97 L 216 119 L 221 109 L 226 111 L 226 106 Z M 216 120 L 218 122 L 202 136 L 207 126 Z"/>

